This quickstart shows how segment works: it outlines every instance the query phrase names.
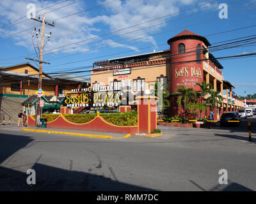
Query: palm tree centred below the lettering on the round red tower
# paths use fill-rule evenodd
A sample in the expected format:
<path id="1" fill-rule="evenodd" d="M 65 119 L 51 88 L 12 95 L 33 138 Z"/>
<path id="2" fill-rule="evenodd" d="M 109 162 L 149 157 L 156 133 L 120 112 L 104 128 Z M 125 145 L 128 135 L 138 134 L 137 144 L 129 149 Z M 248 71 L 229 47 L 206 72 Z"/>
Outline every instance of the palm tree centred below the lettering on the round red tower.
<path id="1" fill-rule="evenodd" d="M 191 89 L 191 88 L 187 89 L 187 87 L 185 87 L 184 85 L 181 85 L 180 87 L 178 87 L 176 89 L 175 93 L 180 94 L 179 98 L 177 99 L 177 104 L 183 108 L 184 119 L 185 119 L 186 118 L 186 110 L 188 108 L 189 101 L 191 100 L 191 98 L 193 98 L 193 96 L 195 96 L 193 94 L 193 89 Z M 183 103 L 181 103 L 182 99 L 183 99 Z"/>

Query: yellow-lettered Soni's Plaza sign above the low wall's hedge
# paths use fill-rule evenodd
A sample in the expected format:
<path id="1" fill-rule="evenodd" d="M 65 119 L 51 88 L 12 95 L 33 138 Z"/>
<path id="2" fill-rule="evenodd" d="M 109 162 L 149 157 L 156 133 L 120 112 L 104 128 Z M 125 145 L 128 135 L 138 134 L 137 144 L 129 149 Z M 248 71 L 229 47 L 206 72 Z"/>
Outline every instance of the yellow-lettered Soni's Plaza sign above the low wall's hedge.
<path id="1" fill-rule="evenodd" d="M 102 106 L 118 106 L 121 104 L 120 91 L 91 91 L 86 89 L 74 89 L 65 96 L 64 103 L 67 107 L 102 107 Z"/>

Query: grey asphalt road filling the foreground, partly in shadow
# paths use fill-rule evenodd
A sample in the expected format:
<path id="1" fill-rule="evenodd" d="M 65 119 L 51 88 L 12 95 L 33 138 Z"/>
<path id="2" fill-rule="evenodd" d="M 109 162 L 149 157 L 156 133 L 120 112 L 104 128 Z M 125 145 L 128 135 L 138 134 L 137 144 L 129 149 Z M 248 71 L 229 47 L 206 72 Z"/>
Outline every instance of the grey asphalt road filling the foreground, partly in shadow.
<path id="1" fill-rule="evenodd" d="M 239 128 L 159 126 L 163 136 L 120 140 L 0 127 L 1 191 L 255 191 L 252 142 Z M 108 135 L 111 133 L 108 133 Z M 36 185 L 26 184 L 28 169 Z M 220 185 L 219 170 L 228 172 Z"/>

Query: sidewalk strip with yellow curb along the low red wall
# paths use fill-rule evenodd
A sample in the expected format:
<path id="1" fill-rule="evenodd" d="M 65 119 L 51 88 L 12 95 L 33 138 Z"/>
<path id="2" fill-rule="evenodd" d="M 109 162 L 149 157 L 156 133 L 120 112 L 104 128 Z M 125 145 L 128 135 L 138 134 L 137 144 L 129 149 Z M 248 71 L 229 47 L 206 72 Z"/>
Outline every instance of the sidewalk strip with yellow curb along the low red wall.
<path id="1" fill-rule="evenodd" d="M 125 134 L 125 133 L 86 131 L 81 129 L 58 129 L 58 128 L 35 128 L 35 127 L 25 127 L 25 128 L 17 128 L 17 129 L 20 129 L 22 131 L 32 131 L 32 132 L 38 132 L 38 133 L 88 136 L 88 137 L 94 137 L 94 138 L 107 138 L 107 139 L 120 139 L 120 138 L 127 138 L 131 136 L 130 134 Z"/>

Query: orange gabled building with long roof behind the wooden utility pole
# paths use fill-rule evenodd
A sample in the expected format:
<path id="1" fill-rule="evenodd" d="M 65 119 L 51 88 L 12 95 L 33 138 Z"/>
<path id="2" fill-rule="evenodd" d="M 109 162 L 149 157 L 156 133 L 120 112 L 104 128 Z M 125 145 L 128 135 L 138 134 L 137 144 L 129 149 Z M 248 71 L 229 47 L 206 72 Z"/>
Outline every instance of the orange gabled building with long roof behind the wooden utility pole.
<path id="1" fill-rule="evenodd" d="M 15 64 L 13 66 L 0 66 L 0 120 L 3 115 L 11 117 L 11 122 L 17 119 L 20 110 L 28 110 L 28 104 L 22 106 L 30 96 L 35 97 L 38 90 L 39 69 L 29 64 Z M 49 76 L 42 75 L 42 90 L 45 96 L 65 96 L 72 89 L 90 86 L 90 78 L 76 77 L 74 75 Z M 28 100 L 29 101 L 29 100 Z"/>

